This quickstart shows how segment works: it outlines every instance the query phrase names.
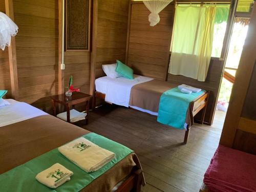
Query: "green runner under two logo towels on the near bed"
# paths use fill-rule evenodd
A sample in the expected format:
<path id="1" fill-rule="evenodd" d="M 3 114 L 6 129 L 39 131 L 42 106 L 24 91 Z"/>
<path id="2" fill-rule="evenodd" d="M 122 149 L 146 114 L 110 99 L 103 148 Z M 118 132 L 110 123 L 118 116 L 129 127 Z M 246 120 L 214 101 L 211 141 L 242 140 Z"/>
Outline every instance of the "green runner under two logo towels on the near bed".
<path id="1" fill-rule="evenodd" d="M 65 156 L 59 153 L 58 149 L 47 152 L 40 155 L 25 164 L 19 165 L 8 172 L 0 175 L 0 190 L 1 191 L 79 191 L 86 187 L 93 180 L 104 174 L 107 170 L 113 167 L 117 162 L 122 160 L 127 155 L 131 154 L 133 151 L 115 141 L 107 139 L 103 136 L 97 135 L 95 133 L 89 133 L 82 136 L 89 141 L 97 144 L 98 146 L 105 148 L 113 153 L 115 153 L 115 158 L 98 169 L 96 172 L 86 173 L 84 170 L 76 166 Z M 17 157 L 18 158 L 18 157 Z M 74 175 L 71 176 L 71 180 L 62 184 L 56 189 L 49 188 L 41 183 L 39 183 L 35 176 L 42 170 L 49 168 L 55 163 L 60 163 L 66 168 L 70 169 Z"/>

